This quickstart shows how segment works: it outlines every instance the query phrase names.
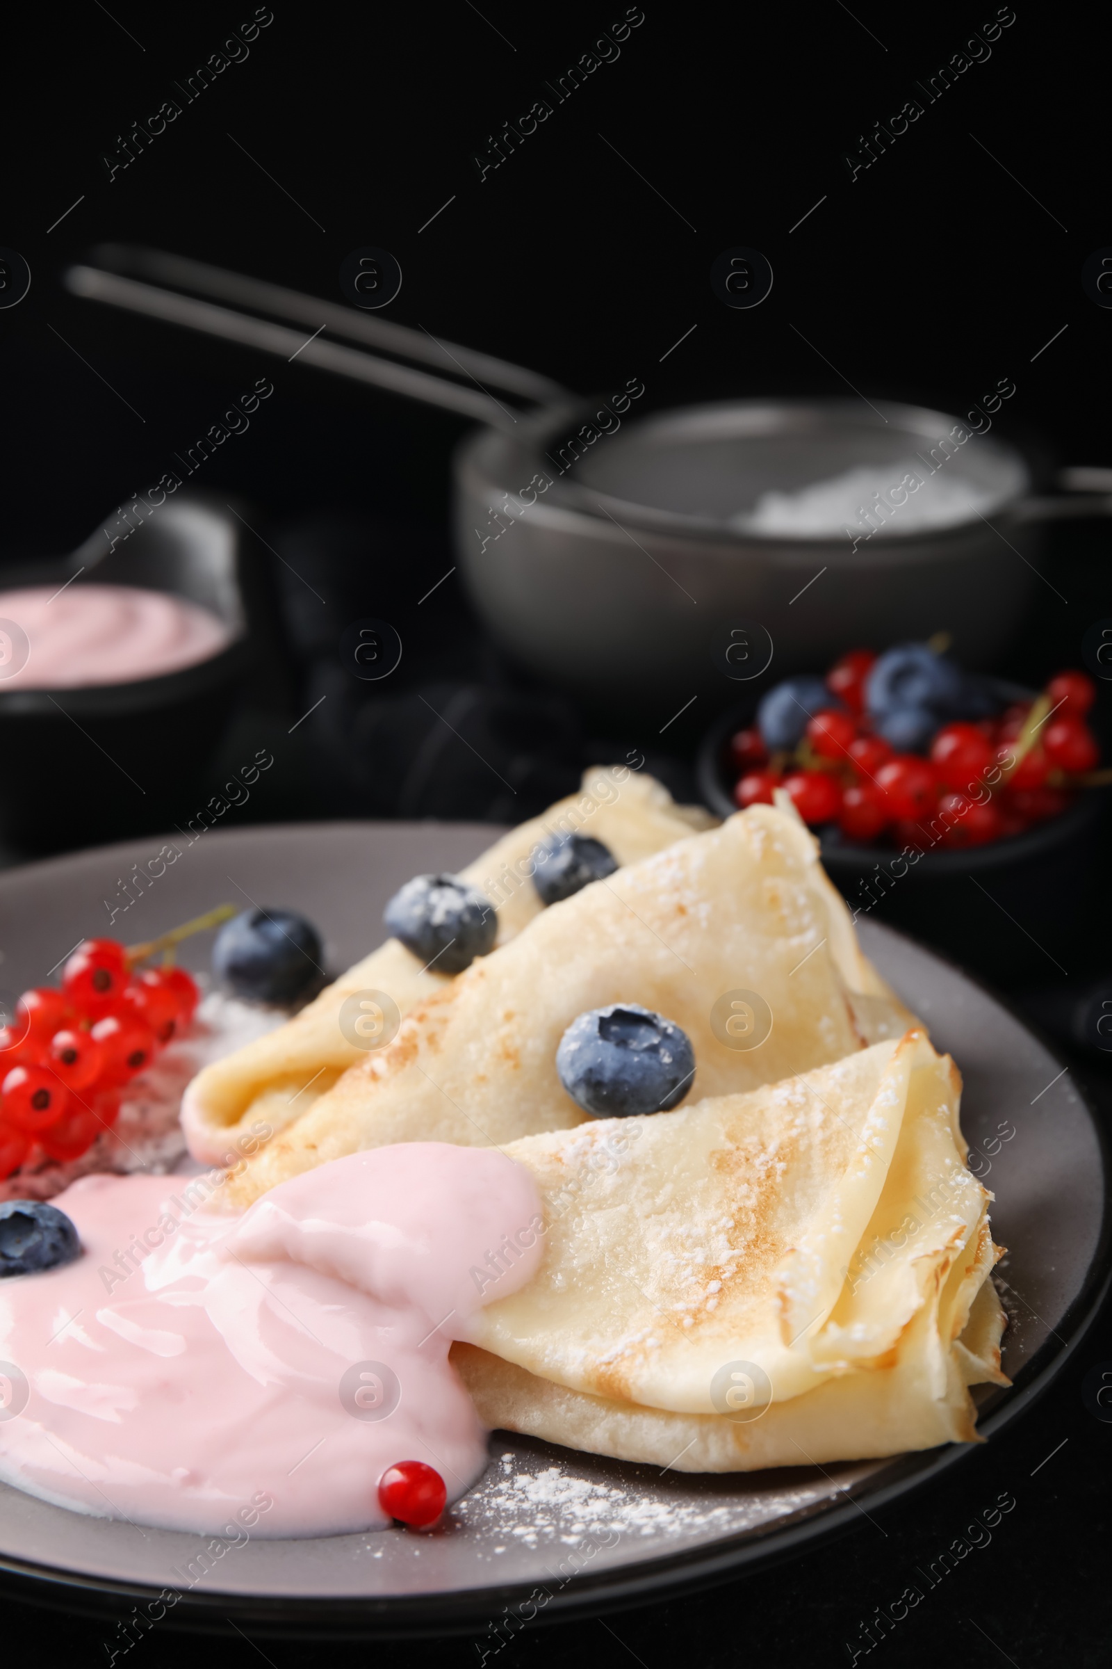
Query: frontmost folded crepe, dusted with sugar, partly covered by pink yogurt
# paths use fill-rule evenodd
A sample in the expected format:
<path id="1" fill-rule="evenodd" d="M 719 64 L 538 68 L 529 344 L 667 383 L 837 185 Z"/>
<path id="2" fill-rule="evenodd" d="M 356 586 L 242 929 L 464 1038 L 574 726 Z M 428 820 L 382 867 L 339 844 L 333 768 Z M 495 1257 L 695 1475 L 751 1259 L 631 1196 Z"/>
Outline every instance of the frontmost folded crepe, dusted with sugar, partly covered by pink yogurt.
<path id="1" fill-rule="evenodd" d="M 480 1417 L 687 1472 L 977 1440 L 967 1387 L 1009 1380 L 959 1093 L 912 1030 L 745 1095 L 510 1143 L 545 1257 L 453 1347 Z M 513 1255 L 513 1237 L 492 1248 L 477 1285 Z"/>

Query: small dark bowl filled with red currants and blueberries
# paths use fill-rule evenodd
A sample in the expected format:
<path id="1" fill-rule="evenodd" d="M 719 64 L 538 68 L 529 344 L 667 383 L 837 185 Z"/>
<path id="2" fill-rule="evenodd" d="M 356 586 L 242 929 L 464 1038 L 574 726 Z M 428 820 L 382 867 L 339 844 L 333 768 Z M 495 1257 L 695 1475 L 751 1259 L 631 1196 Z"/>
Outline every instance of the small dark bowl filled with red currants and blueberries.
<path id="1" fill-rule="evenodd" d="M 967 673 L 945 639 L 854 649 L 725 713 L 699 786 L 730 816 L 782 791 L 855 918 L 872 915 L 1002 983 L 1039 978 L 1084 908 L 1112 769 L 1095 686 Z"/>

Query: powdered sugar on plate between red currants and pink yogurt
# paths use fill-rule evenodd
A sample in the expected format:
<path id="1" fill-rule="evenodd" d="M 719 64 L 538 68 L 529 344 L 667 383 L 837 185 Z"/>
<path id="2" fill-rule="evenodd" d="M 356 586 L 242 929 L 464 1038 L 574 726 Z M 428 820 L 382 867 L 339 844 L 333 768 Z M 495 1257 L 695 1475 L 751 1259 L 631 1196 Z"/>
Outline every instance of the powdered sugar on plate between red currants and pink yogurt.
<path id="1" fill-rule="evenodd" d="M 203 976 L 197 980 L 198 985 L 203 983 Z M 210 991 L 200 1001 L 185 1036 L 168 1043 L 148 1070 L 127 1085 L 120 1117 L 112 1130 L 105 1130 L 80 1158 L 67 1163 L 48 1158 L 35 1145 L 23 1165 L 7 1182 L 0 1182 L 0 1200 L 50 1200 L 92 1172 L 167 1175 L 185 1153 L 178 1113 L 190 1078 L 208 1061 L 273 1031 L 287 1018 L 285 1010 L 257 1008 L 222 991 Z"/>

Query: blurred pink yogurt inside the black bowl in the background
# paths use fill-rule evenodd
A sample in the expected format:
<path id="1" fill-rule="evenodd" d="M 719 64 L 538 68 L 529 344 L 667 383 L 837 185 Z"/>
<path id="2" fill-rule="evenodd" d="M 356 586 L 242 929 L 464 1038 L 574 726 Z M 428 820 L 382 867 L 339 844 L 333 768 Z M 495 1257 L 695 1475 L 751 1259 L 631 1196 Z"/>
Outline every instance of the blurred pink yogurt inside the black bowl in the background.
<path id="1" fill-rule="evenodd" d="M 132 684 L 207 661 L 228 639 L 208 609 L 163 591 L 80 581 L 0 591 L 0 693 Z"/>

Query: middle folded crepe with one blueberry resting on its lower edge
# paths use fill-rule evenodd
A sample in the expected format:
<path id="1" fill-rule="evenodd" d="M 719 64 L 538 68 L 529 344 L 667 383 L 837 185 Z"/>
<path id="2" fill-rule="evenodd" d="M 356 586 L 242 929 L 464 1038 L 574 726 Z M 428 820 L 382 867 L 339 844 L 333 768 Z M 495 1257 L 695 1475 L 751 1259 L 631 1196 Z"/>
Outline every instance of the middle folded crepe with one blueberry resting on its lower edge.
<path id="1" fill-rule="evenodd" d="M 770 1021 L 749 1048 L 724 1040 L 720 1005 L 739 993 Z M 579 1125 L 557 1046 L 577 1015 L 619 1001 L 687 1031 L 692 1098 L 840 1060 L 912 1020 L 862 956 L 814 836 L 794 811 L 754 806 L 537 915 L 350 1066 L 222 1198 L 247 1207 L 392 1142 L 503 1145 Z"/>

